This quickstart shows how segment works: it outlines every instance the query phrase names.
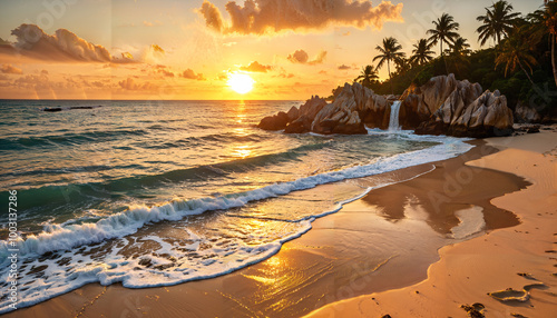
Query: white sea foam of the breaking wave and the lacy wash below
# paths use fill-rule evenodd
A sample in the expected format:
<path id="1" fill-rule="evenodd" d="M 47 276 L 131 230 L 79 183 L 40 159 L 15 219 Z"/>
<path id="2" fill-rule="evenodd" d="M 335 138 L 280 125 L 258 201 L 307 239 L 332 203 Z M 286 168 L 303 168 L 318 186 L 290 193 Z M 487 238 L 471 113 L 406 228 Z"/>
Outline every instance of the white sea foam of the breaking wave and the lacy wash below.
<path id="1" fill-rule="evenodd" d="M 47 269 L 40 278 L 33 278 L 32 275 L 23 276 L 20 284 L 29 282 L 29 285 L 26 285 L 28 286 L 27 289 L 20 290 L 22 300 L 18 304 L 18 307 L 31 306 L 95 281 L 102 285 L 121 282 L 125 287 L 144 288 L 205 279 L 237 270 L 276 254 L 285 241 L 297 238 L 309 231 L 315 218 L 339 211 L 342 205 L 363 197 L 372 189 L 365 189 L 359 196 L 341 201 L 328 211 L 319 212 L 300 220 L 282 222 L 286 225 L 284 228 L 281 228 L 282 236 L 272 241 L 268 241 L 264 237 L 258 238 L 257 233 L 250 233 L 251 239 L 261 241 L 261 244 L 255 246 L 246 244 L 241 239 L 228 239 L 224 245 L 215 245 L 213 248 L 205 250 L 201 248 L 201 245 L 207 238 L 203 238 L 186 229 L 188 233 L 187 242 L 184 241 L 177 245 L 169 244 L 156 236 L 141 238 L 141 240 L 156 242 L 158 248 L 140 258 L 126 258 L 118 254 L 120 248 L 117 247 L 108 249 L 108 252 L 102 251 L 101 260 L 87 252 L 91 251 L 95 247 L 89 246 L 90 244 L 106 242 L 110 238 L 121 238 L 121 241 L 126 242 L 128 241 L 126 236 L 136 232 L 146 223 L 163 220 L 176 221 L 185 216 L 199 215 L 209 210 L 242 207 L 251 201 L 284 196 L 292 191 L 310 189 L 319 185 L 444 160 L 472 148 L 472 146 L 462 142 L 462 139 L 457 138 L 427 136 L 407 136 L 405 138 L 441 141 L 442 143 L 428 149 L 382 158 L 367 166 L 355 166 L 339 171 L 319 173 L 242 193 L 195 200 L 175 199 L 163 206 L 130 207 L 126 211 L 111 215 L 97 222 L 67 222 L 66 226 L 48 226 L 43 232 L 18 241 L 17 248 L 20 250 L 21 258 L 30 261 L 27 265 L 27 270 L 30 270 L 33 266 L 47 265 Z M 123 246 L 125 245 L 123 244 Z M 78 254 L 76 251 L 77 247 L 80 247 L 82 251 Z M 37 256 L 47 251 L 58 251 L 58 254 L 61 254 L 61 257 L 68 257 L 71 261 L 62 266 L 53 259 L 37 259 Z M 188 252 L 194 252 L 196 257 L 189 258 Z M 7 254 L 7 241 L 1 241 L 0 256 L 6 259 L 4 256 Z M 213 257 L 209 257 L 211 255 Z M 172 259 L 178 259 L 179 261 L 175 262 Z M 137 270 L 141 261 L 148 262 L 150 267 Z M 3 264 L 2 268 L 8 267 Z M 0 275 L 6 281 L 8 272 L 4 269 L 0 269 Z M 7 300 L 0 301 L 0 314 L 11 310 L 8 305 Z"/>

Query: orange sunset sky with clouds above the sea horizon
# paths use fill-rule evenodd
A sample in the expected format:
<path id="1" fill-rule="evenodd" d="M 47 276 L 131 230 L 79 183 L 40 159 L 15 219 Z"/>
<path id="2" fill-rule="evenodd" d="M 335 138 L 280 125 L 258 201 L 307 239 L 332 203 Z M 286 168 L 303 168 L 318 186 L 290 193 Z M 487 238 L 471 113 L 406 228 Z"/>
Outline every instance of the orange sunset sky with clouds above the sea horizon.
<path id="1" fill-rule="evenodd" d="M 466 3 L 465 3 L 466 2 Z M 543 1 L 509 1 L 531 12 Z M 228 4 L 227 4 L 228 3 Z M 0 4 L 0 98 L 306 99 L 352 81 L 393 36 L 410 53 L 455 16 L 473 49 L 483 0 L 22 0 Z M 334 8 L 334 9 L 333 9 Z M 438 50 L 434 48 L 434 50 Z M 227 86 L 250 74 L 246 95 Z M 381 70 L 387 77 L 387 70 Z"/>

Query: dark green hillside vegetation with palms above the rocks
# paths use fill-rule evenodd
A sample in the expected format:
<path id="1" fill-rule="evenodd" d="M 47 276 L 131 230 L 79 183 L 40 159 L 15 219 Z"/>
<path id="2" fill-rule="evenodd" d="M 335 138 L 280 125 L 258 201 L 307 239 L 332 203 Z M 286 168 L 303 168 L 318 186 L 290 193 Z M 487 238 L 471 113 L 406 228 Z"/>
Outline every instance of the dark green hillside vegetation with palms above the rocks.
<path id="1" fill-rule="evenodd" d="M 557 34 L 557 0 L 546 1 L 537 11 L 522 16 L 512 12 L 512 6 L 499 0 L 486 8 L 486 14 L 477 18 L 478 41 L 494 47 L 470 50 L 467 39 L 458 33 L 459 24 L 447 13 L 432 21 L 429 39 L 413 44 L 408 59 L 394 38 L 378 46 L 380 54 L 377 68 L 367 66 L 354 81 L 377 93 L 402 93 L 408 87 L 421 86 L 430 78 L 455 73 L 457 79 L 479 82 L 483 89 L 498 89 L 507 96 L 508 106 L 517 102 L 536 108 L 540 115 L 557 111 L 557 64 L 555 42 Z M 440 44 L 437 58 L 431 47 Z M 448 49 L 443 50 L 443 44 Z M 391 72 L 390 62 L 397 66 Z M 387 62 L 389 79 L 379 81 L 377 70 Z M 333 96 L 340 88 L 333 89 Z"/>

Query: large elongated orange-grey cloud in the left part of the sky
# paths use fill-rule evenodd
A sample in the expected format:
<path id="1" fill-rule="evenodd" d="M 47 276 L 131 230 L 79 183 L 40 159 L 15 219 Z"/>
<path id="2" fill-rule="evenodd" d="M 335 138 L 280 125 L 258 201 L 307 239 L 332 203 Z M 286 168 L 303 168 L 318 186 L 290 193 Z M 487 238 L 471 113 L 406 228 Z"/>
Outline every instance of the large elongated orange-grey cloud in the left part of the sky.
<path id="1" fill-rule="evenodd" d="M 49 36 L 35 24 L 21 24 L 11 31 L 14 47 L 23 54 L 48 60 L 76 60 L 107 62 L 113 59 L 102 46 L 92 44 L 66 29 Z"/>

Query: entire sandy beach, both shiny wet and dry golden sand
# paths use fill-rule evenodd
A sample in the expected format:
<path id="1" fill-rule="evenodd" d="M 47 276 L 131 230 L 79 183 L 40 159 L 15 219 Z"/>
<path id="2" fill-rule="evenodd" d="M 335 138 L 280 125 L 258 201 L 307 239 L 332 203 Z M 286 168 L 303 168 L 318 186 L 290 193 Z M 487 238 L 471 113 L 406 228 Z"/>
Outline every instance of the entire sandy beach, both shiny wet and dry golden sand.
<path id="1" fill-rule="evenodd" d="M 394 185 L 222 277 L 145 289 L 91 284 L 6 317 L 465 317 L 460 306 L 476 302 L 491 317 L 549 317 L 556 137 L 476 140 L 453 159 L 349 180 Z M 334 196 L 342 183 L 316 189 Z M 487 295 L 507 288 L 530 297 Z"/>

